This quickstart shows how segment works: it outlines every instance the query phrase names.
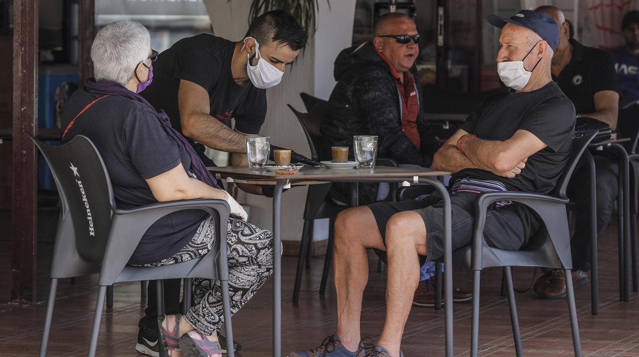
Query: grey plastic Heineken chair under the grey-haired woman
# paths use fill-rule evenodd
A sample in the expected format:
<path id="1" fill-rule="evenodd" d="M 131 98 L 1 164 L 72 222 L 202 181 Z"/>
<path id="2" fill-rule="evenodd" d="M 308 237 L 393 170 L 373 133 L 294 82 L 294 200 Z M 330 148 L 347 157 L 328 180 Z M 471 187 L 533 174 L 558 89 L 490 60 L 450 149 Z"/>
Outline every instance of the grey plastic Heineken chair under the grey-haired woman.
<path id="1" fill-rule="evenodd" d="M 226 201 L 198 199 L 150 204 L 127 210 L 118 209 L 104 162 L 87 137 L 78 135 L 61 146 L 49 146 L 35 139 L 30 133 L 27 135 L 49 163 L 62 202 L 51 264 L 51 287 L 40 356 L 46 356 L 47 353 L 58 279 L 95 273 L 100 274 L 100 289 L 93 319 L 89 356 L 95 356 L 105 292 L 107 287 L 116 282 L 160 280 L 157 289 L 160 310 L 163 307 L 162 279 L 221 280 L 226 333 L 228 340 L 233 341 L 226 255 L 229 206 Z M 219 239 L 215 239 L 212 250 L 203 257 L 167 266 L 127 265 L 142 235 L 151 224 L 162 216 L 183 209 L 203 209 L 215 218 L 215 230 Z M 235 355 L 233 349 L 229 349 L 228 355 Z"/>

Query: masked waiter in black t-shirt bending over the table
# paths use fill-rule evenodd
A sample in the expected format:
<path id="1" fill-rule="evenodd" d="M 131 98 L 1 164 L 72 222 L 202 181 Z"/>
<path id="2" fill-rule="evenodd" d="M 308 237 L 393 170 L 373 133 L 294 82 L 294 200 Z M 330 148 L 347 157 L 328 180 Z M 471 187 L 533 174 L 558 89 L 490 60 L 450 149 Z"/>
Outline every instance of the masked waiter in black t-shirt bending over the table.
<path id="1" fill-rule="evenodd" d="M 174 128 L 192 141 L 206 165 L 204 145 L 231 153 L 231 165 L 246 166 L 246 137 L 258 135 L 266 116 L 266 88 L 279 84 L 284 69 L 304 47 L 307 33 L 288 12 L 260 15 L 243 41 L 199 34 L 176 42 L 153 63 L 153 82 L 142 96 L 164 110 Z M 231 118 L 235 128 L 231 128 Z M 272 146 L 273 148 L 273 146 Z M 292 162 L 319 163 L 295 152 Z M 272 186 L 238 185 L 252 194 L 272 195 Z M 165 280 L 167 314 L 180 309 L 180 280 Z M 155 283 L 148 286 L 148 306 L 139 323 L 136 350 L 158 356 Z M 222 349 L 225 340 L 220 336 Z"/>

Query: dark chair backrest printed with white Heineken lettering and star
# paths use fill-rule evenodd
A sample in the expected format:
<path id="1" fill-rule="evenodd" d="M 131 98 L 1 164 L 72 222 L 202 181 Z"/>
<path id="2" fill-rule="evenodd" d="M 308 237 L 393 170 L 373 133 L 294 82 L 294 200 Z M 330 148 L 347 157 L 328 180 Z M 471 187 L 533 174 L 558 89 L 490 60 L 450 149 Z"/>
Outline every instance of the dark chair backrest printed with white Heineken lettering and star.
<path id="1" fill-rule="evenodd" d="M 49 163 L 58 185 L 62 201 L 60 225 L 68 229 L 58 229 L 56 245 L 61 236 L 73 239 L 81 259 L 102 262 L 116 206 L 111 179 L 98 150 L 83 135 L 61 146 L 50 146 L 27 134 Z M 70 247 L 65 245 L 66 249 Z"/>

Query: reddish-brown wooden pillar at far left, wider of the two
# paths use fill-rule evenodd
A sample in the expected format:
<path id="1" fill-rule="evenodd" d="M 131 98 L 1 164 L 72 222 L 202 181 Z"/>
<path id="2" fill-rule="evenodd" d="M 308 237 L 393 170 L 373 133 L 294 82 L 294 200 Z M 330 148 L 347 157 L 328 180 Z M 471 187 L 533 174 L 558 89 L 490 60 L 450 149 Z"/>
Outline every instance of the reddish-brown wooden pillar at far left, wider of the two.
<path id="1" fill-rule="evenodd" d="M 11 300 L 36 301 L 38 0 L 13 0 Z"/>

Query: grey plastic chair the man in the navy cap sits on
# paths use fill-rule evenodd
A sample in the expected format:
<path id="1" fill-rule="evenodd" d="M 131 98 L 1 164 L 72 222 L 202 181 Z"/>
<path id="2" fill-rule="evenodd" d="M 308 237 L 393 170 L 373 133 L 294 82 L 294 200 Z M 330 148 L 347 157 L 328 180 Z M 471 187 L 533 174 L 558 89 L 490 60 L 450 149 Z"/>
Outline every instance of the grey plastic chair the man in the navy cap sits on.
<path id="1" fill-rule="evenodd" d="M 566 165 L 561 178 L 557 182 L 555 190 L 550 195 L 530 194 L 527 192 L 486 192 L 477 195 L 475 199 L 475 216 L 473 227 L 472 245 L 466 245 L 453 252 L 455 264 L 464 264 L 473 270 L 473 310 L 472 310 L 472 336 L 471 356 L 477 356 L 479 349 L 479 296 L 481 287 L 481 271 L 483 268 L 501 266 L 504 268 L 505 282 L 507 285 L 508 303 L 511 312 L 512 335 L 516 349 L 516 356 L 523 356 L 521 336 L 517 308 L 514 298 L 512 283 L 513 266 L 531 266 L 546 268 L 564 268 L 566 277 L 571 276 L 573 261 L 570 250 L 570 233 L 566 213 L 566 204 L 569 202 L 566 196 L 566 188 L 581 155 L 584 153 L 590 141 L 597 132 L 587 133 L 573 140 L 573 153 Z M 423 187 L 401 187 L 398 197 L 415 197 L 424 191 Z M 486 211 L 488 206 L 497 201 L 516 201 L 528 206 L 537 213 L 544 223 L 534 236 L 530 237 L 525 247 L 520 250 L 503 250 L 489 245 L 484 241 L 483 232 L 486 223 Z M 438 260 L 441 262 L 441 260 Z M 438 269 L 437 271 L 441 271 Z M 441 282 L 441 278 L 438 279 Z M 439 283 L 438 285 L 440 285 Z M 573 331 L 574 355 L 581 356 L 581 342 L 577 324 L 576 307 L 574 303 L 573 280 L 566 279 L 568 308 Z M 440 287 L 436 287 L 440 292 Z M 440 294 L 436 294 L 440 295 Z M 438 296 L 436 296 L 436 300 Z M 439 301 L 441 298 L 439 298 Z"/>

